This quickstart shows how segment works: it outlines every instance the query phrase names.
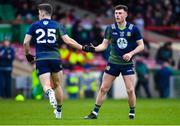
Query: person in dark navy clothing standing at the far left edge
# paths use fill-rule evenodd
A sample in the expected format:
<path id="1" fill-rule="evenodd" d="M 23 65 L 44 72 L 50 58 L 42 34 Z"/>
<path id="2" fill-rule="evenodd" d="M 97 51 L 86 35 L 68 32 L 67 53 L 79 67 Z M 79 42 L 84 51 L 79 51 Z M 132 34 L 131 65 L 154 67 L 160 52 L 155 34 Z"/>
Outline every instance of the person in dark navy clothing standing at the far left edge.
<path id="1" fill-rule="evenodd" d="M 11 97 L 12 64 L 15 56 L 10 41 L 5 40 L 0 47 L 0 97 Z"/>

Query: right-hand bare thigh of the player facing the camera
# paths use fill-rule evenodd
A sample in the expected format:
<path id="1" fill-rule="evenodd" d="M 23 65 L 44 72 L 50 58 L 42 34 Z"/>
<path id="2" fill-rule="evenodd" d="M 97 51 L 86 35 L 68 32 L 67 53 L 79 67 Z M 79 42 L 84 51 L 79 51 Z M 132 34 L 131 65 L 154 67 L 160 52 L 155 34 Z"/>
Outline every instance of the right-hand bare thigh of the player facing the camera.
<path id="1" fill-rule="evenodd" d="M 127 90 L 134 90 L 135 82 L 136 82 L 136 76 L 135 74 L 131 75 L 123 75 L 124 83 Z"/>

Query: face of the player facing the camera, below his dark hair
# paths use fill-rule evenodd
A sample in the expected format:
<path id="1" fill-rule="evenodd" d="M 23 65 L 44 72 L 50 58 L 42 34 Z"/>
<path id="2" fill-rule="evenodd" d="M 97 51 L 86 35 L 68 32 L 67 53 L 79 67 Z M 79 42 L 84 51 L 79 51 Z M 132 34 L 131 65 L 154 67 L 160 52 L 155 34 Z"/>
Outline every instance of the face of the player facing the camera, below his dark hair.
<path id="1" fill-rule="evenodd" d="M 127 12 L 124 11 L 123 9 L 115 10 L 114 16 L 115 16 L 116 22 L 122 23 L 126 20 Z"/>

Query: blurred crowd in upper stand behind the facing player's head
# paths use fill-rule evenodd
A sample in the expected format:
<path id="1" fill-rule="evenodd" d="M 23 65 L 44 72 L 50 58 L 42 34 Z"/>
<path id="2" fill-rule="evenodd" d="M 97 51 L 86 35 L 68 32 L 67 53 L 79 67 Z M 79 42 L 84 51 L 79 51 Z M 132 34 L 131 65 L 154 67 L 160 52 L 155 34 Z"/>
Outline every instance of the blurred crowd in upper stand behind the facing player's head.
<path id="1" fill-rule="evenodd" d="M 129 19 L 143 18 L 146 26 L 179 26 L 179 0 L 63 0 L 66 3 L 79 6 L 96 14 L 104 14 L 108 18 L 113 16 L 113 7 L 126 4 L 129 7 Z M 98 8 L 98 9 L 95 9 Z"/>

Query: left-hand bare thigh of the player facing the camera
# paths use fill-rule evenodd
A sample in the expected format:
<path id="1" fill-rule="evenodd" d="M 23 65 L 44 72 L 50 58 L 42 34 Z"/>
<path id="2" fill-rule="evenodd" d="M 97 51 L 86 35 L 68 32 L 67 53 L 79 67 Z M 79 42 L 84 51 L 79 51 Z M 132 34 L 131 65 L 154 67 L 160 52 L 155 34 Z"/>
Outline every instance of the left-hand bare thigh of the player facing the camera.
<path id="1" fill-rule="evenodd" d="M 104 72 L 101 87 L 109 89 L 115 79 L 116 79 L 116 76 L 113 76 L 113 75 L 110 75 L 110 74 Z"/>

